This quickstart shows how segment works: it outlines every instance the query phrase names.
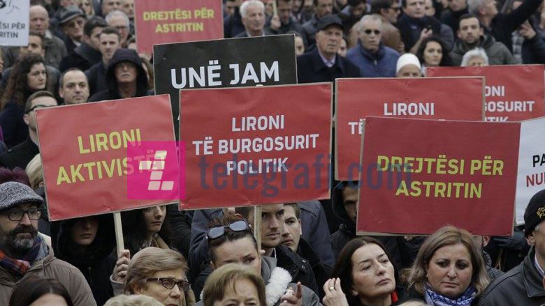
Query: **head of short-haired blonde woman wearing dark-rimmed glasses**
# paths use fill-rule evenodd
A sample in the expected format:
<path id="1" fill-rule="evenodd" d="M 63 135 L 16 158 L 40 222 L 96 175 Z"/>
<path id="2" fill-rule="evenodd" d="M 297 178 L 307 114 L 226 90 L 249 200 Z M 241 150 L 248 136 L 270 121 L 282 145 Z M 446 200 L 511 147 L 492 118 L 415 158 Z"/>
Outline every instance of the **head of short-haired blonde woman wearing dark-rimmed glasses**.
<path id="1" fill-rule="evenodd" d="M 192 306 L 195 296 L 186 277 L 182 254 L 159 247 L 146 247 L 129 263 L 124 290 L 150 296 L 163 305 Z"/>

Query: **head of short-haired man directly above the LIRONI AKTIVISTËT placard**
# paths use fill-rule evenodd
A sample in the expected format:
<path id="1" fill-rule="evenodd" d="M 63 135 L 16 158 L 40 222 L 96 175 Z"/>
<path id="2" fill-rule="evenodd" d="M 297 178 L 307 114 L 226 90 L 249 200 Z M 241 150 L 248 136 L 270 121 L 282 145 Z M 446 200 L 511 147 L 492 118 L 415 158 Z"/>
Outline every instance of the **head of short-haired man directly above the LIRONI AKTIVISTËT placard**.
<path id="1" fill-rule="evenodd" d="M 59 79 L 59 97 L 64 105 L 87 102 L 89 98 L 89 82 L 82 70 L 71 68 L 66 70 Z"/>

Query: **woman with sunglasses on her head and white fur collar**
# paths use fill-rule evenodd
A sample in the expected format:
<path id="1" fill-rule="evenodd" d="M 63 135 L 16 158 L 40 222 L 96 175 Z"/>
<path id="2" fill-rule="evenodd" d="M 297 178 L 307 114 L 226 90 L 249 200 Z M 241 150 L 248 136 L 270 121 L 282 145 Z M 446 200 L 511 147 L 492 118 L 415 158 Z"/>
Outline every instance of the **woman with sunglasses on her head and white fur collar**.
<path id="1" fill-rule="evenodd" d="M 320 305 L 316 293 L 300 283 L 293 284 L 290 273 L 277 267 L 276 259 L 261 256 L 254 234 L 245 220 L 224 222 L 228 225 L 216 222 L 208 230 L 211 262 L 210 268 L 204 270 L 201 275 L 210 275 L 212 270 L 228 263 L 240 263 L 261 275 L 266 284 L 267 305 Z M 197 305 L 203 305 L 203 301 Z"/>

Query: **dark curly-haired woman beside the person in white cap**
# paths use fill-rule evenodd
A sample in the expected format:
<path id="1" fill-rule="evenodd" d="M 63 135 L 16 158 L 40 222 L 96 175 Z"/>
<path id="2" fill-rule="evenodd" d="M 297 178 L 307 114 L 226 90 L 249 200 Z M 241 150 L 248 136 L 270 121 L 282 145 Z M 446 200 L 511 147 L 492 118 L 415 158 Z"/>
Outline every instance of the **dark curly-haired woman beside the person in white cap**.
<path id="1" fill-rule="evenodd" d="M 422 64 L 422 72 L 426 67 L 451 66 L 451 58 L 443 40 L 437 36 L 424 38 L 416 51 L 416 56 Z"/>

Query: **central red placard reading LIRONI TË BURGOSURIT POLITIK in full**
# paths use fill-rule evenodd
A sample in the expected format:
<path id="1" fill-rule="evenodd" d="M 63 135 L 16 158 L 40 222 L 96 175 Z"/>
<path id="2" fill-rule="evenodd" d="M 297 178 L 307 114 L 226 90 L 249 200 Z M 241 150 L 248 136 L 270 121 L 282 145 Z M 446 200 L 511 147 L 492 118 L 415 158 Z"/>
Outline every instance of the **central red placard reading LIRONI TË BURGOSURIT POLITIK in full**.
<path id="1" fill-rule="evenodd" d="M 329 198 L 331 84 L 180 91 L 181 208 Z"/>

